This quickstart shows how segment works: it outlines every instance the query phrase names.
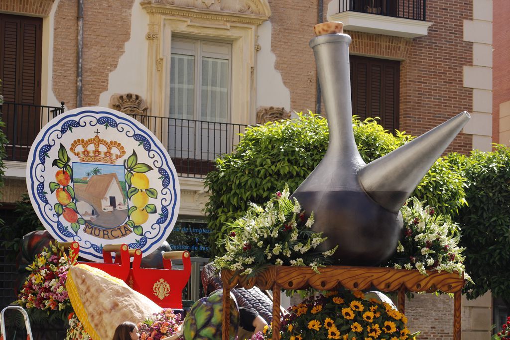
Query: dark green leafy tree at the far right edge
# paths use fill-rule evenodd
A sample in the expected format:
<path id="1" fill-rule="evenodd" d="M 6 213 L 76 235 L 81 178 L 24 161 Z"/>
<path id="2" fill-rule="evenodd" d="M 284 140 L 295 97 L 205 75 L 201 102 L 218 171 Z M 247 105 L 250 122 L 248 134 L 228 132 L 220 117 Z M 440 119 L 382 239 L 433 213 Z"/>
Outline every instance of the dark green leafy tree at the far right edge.
<path id="1" fill-rule="evenodd" d="M 467 178 L 466 199 L 458 222 L 466 247 L 466 271 L 474 284 L 468 298 L 488 290 L 510 301 L 510 149 L 497 145 L 493 152 L 473 151 L 461 160 Z"/>

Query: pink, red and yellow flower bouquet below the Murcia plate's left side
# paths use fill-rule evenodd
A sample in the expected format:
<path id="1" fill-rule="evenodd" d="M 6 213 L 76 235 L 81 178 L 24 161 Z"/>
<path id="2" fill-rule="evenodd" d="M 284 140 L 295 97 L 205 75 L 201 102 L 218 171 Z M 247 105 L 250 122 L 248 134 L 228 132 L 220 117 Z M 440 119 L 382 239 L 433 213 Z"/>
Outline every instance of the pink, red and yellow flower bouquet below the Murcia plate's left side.
<path id="1" fill-rule="evenodd" d="M 67 321 L 72 311 L 65 288 L 68 269 L 69 259 L 64 248 L 58 243 L 50 243 L 27 267 L 30 274 L 15 303 L 27 309 L 31 319 L 36 322 L 44 319 L 48 322 Z"/>

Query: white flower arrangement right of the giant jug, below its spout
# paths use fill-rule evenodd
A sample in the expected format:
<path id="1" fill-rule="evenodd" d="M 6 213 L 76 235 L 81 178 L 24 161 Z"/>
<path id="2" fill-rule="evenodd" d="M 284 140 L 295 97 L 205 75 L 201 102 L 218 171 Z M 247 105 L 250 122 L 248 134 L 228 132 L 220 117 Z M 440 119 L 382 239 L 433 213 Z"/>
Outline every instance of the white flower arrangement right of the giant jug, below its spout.
<path id="1" fill-rule="evenodd" d="M 457 272 L 470 280 L 463 264 L 462 252 L 466 248 L 458 247 L 460 229 L 448 216 L 436 214 L 423 204 L 412 197 L 401 208 L 405 236 L 398 242 L 389 266 L 418 269 L 423 275 L 426 270 Z"/>

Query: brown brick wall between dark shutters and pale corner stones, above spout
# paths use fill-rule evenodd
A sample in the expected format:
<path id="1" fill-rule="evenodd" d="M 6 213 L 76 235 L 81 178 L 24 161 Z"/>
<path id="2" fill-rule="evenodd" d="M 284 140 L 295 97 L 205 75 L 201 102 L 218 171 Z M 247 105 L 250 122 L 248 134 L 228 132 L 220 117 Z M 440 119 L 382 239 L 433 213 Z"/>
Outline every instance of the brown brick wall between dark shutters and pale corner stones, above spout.
<path id="1" fill-rule="evenodd" d="M 472 89 L 463 87 L 463 66 L 472 65 L 472 43 L 463 41 L 463 20 L 472 2 L 427 1 L 428 35 L 413 40 L 400 66 L 400 130 L 421 135 L 461 111 L 472 111 Z M 470 135 L 447 151 L 469 152 Z"/>

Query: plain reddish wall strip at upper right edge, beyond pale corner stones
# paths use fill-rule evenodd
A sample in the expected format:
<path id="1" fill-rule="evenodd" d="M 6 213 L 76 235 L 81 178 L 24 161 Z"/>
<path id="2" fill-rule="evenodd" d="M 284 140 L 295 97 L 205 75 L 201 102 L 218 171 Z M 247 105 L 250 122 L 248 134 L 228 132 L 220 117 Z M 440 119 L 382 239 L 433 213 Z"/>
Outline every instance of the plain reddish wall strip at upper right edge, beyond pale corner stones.
<path id="1" fill-rule="evenodd" d="M 492 78 L 492 136 L 494 143 L 506 143 L 508 141 L 499 139 L 499 104 L 510 100 L 510 1 L 493 0 L 493 22 L 492 22 L 492 53 L 493 78 Z M 503 122 L 504 124 L 505 122 Z M 503 130 L 510 128 L 510 123 Z"/>

